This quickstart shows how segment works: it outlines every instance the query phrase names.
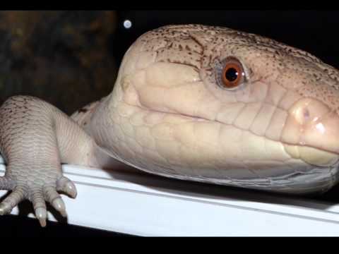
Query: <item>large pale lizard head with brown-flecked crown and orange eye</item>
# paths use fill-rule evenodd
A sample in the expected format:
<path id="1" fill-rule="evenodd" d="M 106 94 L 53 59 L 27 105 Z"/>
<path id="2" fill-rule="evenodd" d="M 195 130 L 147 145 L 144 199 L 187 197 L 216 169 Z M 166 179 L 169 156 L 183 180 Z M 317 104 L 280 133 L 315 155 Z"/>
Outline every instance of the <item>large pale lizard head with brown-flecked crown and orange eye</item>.
<path id="1" fill-rule="evenodd" d="M 266 37 L 162 27 L 124 56 L 109 98 L 119 138 L 107 149 L 157 174 L 239 186 L 337 170 L 338 78 L 315 56 Z"/>

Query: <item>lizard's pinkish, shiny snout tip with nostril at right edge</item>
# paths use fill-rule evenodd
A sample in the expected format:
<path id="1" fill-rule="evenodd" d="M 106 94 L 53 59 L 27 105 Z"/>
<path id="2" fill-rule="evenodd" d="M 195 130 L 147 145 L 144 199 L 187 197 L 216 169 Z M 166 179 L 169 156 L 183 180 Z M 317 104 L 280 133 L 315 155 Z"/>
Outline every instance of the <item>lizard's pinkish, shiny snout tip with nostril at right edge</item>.
<path id="1" fill-rule="evenodd" d="M 281 140 L 292 157 L 328 166 L 338 162 L 338 137 L 338 114 L 318 99 L 303 98 L 288 111 Z"/>

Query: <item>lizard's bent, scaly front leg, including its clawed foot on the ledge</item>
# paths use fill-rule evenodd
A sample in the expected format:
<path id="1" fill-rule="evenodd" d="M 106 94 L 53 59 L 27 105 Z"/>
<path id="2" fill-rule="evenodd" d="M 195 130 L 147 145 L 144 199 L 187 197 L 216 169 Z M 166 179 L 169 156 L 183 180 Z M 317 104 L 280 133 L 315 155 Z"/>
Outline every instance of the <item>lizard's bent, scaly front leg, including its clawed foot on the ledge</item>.
<path id="1" fill-rule="evenodd" d="M 0 107 L 0 151 L 6 162 L 0 189 L 11 194 L 0 204 L 0 214 L 11 212 L 24 199 L 46 225 L 45 201 L 64 217 L 59 191 L 76 198 L 76 186 L 63 176 L 61 162 L 90 164 L 93 140 L 78 124 L 51 104 L 30 96 L 15 96 Z"/>

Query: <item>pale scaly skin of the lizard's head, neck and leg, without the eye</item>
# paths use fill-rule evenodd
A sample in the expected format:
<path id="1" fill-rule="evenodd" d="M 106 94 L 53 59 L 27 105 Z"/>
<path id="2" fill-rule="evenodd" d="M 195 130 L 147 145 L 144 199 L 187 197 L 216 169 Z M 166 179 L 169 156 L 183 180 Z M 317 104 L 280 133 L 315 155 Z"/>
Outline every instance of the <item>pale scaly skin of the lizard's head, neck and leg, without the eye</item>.
<path id="1" fill-rule="evenodd" d="M 244 66 L 234 90 L 218 85 L 228 56 Z M 1 106 L 0 187 L 12 193 L 0 213 L 28 198 L 42 226 L 45 200 L 66 215 L 57 192 L 75 197 L 76 188 L 61 162 L 327 191 L 338 181 L 338 78 L 315 56 L 258 35 L 203 25 L 147 32 L 126 52 L 112 93 L 71 118 L 35 97 Z"/>

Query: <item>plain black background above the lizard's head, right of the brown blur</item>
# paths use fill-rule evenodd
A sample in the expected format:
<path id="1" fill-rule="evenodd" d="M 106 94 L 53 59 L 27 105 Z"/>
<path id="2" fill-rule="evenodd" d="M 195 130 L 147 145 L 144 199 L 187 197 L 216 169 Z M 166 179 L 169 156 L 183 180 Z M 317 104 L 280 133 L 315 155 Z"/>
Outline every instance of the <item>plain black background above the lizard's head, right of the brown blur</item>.
<path id="1" fill-rule="evenodd" d="M 315 54 L 339 67 L 339 11 L 118 11 L 113 50 L 119 60 L 129 45 L 148 30 L 168 24 L 198 23 L 256 33 Z M 126 30 L 123 21 L 131 20 Z"/>

